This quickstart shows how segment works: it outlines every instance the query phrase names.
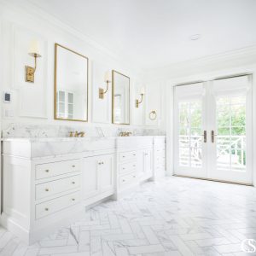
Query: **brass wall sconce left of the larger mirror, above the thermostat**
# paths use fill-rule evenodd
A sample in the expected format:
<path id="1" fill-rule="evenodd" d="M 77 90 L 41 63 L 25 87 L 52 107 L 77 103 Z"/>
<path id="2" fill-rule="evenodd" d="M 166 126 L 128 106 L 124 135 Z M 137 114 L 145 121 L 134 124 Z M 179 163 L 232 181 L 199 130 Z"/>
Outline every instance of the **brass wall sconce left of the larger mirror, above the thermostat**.
<path id="1" fill-rule="evenodd" d="M 25 80 L 26 82 L 34 83 L 34 74 L 37 69 L 37 58 L 41 57 L 41 55 L 39 55 L 38 41 L 33 40 L 31 42 L 28 55 L 35 58 L 35 67 L 25 66 Z"/>

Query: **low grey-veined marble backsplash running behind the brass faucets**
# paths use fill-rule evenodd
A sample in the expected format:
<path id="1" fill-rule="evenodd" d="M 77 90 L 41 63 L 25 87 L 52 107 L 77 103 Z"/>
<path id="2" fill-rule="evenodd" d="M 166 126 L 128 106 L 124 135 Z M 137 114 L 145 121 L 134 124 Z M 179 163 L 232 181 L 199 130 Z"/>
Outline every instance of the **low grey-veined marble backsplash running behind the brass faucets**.
<path id="1" fill-rule="evenodd" d="M 68 137 L 69 131 L 85 131 L 86 137 L 115 137 L 121 131 L 131 131 L 134 136 L 166 135 L 160 129 L 118 128 L 113 126 L 68 126 L 68 125 L 25 125 L 10 124 L 3 129 L 2 137 Z"/>

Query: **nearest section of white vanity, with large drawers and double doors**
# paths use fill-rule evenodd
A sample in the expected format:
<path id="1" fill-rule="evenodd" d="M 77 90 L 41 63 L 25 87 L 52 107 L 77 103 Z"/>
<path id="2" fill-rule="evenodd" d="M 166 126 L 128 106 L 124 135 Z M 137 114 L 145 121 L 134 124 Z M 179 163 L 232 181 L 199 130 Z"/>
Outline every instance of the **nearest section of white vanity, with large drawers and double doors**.
<path id="1" fill-rule="evenodd" d="M 114 152 L 114 137 L 3 140 L 1 224 L 32 244 L 83 218 L 114 193 Z"/>

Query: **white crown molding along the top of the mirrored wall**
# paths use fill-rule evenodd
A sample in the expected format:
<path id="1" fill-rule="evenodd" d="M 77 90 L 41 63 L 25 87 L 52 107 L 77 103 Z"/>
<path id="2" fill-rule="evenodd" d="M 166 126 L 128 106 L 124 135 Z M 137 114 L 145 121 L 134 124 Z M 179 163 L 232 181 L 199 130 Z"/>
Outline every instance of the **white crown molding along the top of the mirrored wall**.
<path id="1" fill-rule="evenodd" d="M 115 54 L 113 50 L 99 44 L 89 35 L 79 32 L 73 26 L 67 25 L 67 23 L 55 18 L 53 15 L 49 15 L 49 13 L 45 12 L 43 9 L 40 9 L 37 5 L 31 3 L 29 0 L 20 0 L 19 3 L 12 3 L 9 0 L 0 0 L 0 4 L 3 5 L 3 9 L 5 8 L 9 12 L 16 12 L 20 13 L 21 15 L 30 16 L 31 19 L 38 20 L 39 22 L 44 21 L 44 23 L 49 24 L 50 26 L 55 26 L 60 30 L 73 35 L 75 38 L 78 38 L 85 44 L 89 44 L 91 48 L 98 50 L 103 55 L 107 55 L 113 61 L 119 61 L 119 63 L 122 63 L 125 67 L 134 70 L 134 72 L 137 72 L 137 69 L 141 69 L 141 67 L 135 67 L 131 60 L 127 60 L 126 58 L 124 60 L 119 55 Z M 3 9 L 0 10 L 0 15 L 3 14 Z"/>

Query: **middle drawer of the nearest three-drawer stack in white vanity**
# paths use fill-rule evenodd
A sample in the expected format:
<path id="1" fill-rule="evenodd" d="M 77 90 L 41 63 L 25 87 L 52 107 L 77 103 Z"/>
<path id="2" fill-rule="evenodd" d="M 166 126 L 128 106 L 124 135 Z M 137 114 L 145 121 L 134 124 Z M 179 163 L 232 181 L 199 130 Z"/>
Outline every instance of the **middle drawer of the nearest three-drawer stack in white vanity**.
<path id="1" fill-rule="evenodd" d="M 49 183 L 41 183 L 36 185 L 36 200 L 70 189 L 79 188 L 79 177 L 79 175 L 76 175 L 73 177 L 61 178 Z"/>

